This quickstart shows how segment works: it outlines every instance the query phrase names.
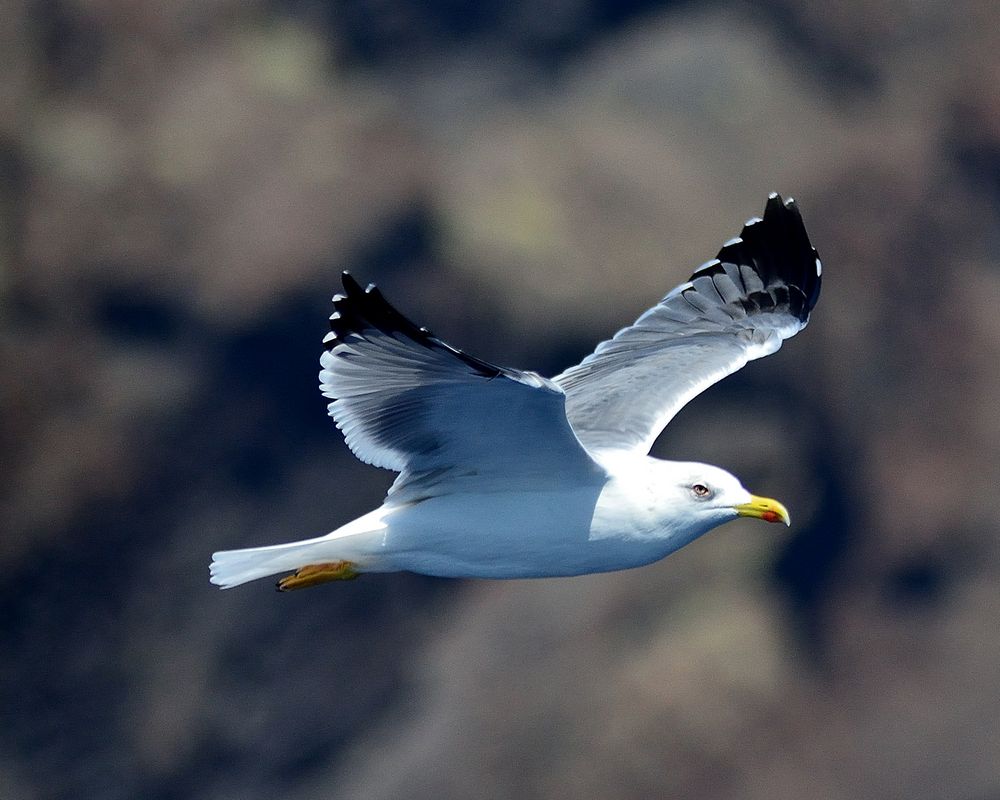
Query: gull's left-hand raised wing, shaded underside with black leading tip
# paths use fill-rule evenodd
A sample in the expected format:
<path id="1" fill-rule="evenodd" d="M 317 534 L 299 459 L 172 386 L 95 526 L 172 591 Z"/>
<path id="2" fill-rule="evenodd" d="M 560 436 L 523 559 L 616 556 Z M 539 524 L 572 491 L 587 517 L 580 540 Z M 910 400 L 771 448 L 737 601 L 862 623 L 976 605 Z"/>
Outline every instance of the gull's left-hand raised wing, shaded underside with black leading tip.
<path id="1" fill-rule="evenodd" d="M 320 388 L 362 461 L 402 473 L 393 486 L 445 475 L 512 480 L 594 474 L 566 419 L 566 396 L 532 372 L 456 350 L 343 275 L 324 339 Z"/>

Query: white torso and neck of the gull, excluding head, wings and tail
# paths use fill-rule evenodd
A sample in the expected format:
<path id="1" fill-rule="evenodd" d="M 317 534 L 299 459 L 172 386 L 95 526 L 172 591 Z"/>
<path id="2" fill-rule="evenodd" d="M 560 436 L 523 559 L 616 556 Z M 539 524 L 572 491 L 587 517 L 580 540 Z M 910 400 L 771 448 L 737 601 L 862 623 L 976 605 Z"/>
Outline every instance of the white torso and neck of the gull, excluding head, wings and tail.
<path id="1" fill-rule="evenodd" d="M 714 527 L 708 519 L 681 524 L 663 467 L 637 459 L 591 484 L 445 495 L 391 512 L 387 566 L 443 577 L 543 578 L 658 561 Z M 719 522 L 736 517 L 724 514 Z"/>

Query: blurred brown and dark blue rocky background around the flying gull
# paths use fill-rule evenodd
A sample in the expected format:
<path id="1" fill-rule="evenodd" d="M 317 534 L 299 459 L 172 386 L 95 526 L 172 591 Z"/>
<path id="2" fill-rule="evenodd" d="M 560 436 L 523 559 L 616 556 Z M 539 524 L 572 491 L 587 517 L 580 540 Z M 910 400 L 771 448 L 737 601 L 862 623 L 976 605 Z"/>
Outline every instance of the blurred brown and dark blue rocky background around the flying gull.
<path id="1" fill-rule="evenodd" d="M 11 0 L 0 67 L 0 797 L 1000 798 L 994 3 Z M 341 270 L 553 374 L 771 190 L 812 324 L 655 452 L 789 532 L 209 585 L 392 478 Z"/>

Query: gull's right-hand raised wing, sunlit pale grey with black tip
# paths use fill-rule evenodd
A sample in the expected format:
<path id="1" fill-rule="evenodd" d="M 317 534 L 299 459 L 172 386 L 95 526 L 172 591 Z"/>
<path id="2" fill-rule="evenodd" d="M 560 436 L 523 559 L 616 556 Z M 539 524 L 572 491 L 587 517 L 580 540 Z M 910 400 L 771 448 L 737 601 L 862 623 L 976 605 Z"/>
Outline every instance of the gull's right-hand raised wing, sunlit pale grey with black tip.
<path id="1" fill-rule="evenodd" d="M 553 379 L 576 435 L 591 451 L 648 452 L 691 398 L 805 327 L 821 274 L 794 201 L 772 194 L 763 219 Z"/>

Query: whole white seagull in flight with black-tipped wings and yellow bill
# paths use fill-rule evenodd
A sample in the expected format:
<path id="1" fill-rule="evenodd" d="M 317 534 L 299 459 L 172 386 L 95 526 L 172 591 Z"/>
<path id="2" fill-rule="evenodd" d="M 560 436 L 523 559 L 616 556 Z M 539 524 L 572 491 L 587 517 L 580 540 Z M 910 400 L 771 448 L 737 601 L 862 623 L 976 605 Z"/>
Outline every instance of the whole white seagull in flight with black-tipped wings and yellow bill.
<path id="1" fill-rule="evenodd" d="M 649 450 L 689 400 L 805 327 L 821 275 L 794 201 L 771 194 L 687 282 L 543 378 L 452 347 L 345 272 L 320 388 L 354 455 L 399 475 L 325 536 L 215 553 L 211 582 L 584 575 L 650 564 L 738 517 L 789 525 L 725 470 Z"/>

